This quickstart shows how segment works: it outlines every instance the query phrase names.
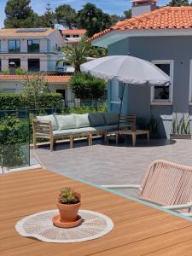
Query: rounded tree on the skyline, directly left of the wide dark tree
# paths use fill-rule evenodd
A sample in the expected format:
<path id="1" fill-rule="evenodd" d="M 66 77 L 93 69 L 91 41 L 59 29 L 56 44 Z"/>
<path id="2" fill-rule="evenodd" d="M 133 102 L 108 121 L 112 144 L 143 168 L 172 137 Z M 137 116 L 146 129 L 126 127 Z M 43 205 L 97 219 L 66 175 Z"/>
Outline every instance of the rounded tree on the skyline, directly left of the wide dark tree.
<path id="1" fill-rule="evenodd" d="M 73 29 L 77 26 L 77 13 L 68 4 L 60 5 L 55 9 L 56 20 L 59 24 Z"/>

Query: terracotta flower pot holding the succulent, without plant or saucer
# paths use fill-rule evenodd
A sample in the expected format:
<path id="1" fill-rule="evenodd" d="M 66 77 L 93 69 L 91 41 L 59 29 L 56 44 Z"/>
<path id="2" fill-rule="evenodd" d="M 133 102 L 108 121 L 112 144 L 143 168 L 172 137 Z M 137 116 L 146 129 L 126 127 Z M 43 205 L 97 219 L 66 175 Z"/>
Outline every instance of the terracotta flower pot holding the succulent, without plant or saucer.
<path id="1" fill-rule="evenodd" d="M 77 220 L 79 207 L 81 202 L 73 205 L 65 205 L 60 202 L 56 202 L 56 206 L 58 207 L 61 215 L 61 222 L 74 222 Z"/>

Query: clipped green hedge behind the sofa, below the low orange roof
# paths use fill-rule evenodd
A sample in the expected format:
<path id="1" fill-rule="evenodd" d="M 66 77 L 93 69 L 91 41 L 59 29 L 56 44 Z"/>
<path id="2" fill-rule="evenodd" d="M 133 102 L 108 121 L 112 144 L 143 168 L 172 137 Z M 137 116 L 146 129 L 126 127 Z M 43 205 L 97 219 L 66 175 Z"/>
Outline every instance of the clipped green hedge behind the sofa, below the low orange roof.
<path id="1" fill-rule="evenodd" d="M 39 108 L 61 108 L 62 96 L 60 93 L 43 93 L 40 96 Z M 26 102 L 21 93 L 0 93 L 0 109 L 34 109 L 34 102 Z"/>

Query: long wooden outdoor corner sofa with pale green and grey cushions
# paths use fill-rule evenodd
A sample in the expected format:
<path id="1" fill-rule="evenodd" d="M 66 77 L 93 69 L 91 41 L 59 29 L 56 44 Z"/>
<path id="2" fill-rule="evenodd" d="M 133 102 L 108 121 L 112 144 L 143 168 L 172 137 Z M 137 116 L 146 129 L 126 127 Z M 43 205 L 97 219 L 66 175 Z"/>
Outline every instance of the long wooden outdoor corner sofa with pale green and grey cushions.
<path id="1" fill-rule="evenodd" d="M 58 139 L 69 139 L 70 148 L 73 148 L 75 137 L 87 137 L 89 146 L 92 145 L 92 137 L 100 135 L 105 142 L 110 131 L 118 128 L 119 116 L 117 113 L 84 113 L 84 114 L 49 114 L 37 116 L 32 120 L 33 145 L 37 148 L 37 139 L 50 140 L 50 150 L 54 150 L 54 144 Z M 121 116 L 119 129 L 136 129 L 136 114 Z"/>

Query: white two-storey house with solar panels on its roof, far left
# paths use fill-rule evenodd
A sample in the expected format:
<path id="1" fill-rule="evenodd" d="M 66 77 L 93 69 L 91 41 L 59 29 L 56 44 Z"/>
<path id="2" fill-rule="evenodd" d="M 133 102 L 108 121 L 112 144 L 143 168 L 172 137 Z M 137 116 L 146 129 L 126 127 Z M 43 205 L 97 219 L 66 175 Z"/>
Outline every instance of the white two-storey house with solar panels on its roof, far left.
<path id="1" fill-rule="evenodd" d="M 63 38 L 57 29 L 0 29 L 0 72 L 11 65 L 28 72 L 55 72 Z"/>

